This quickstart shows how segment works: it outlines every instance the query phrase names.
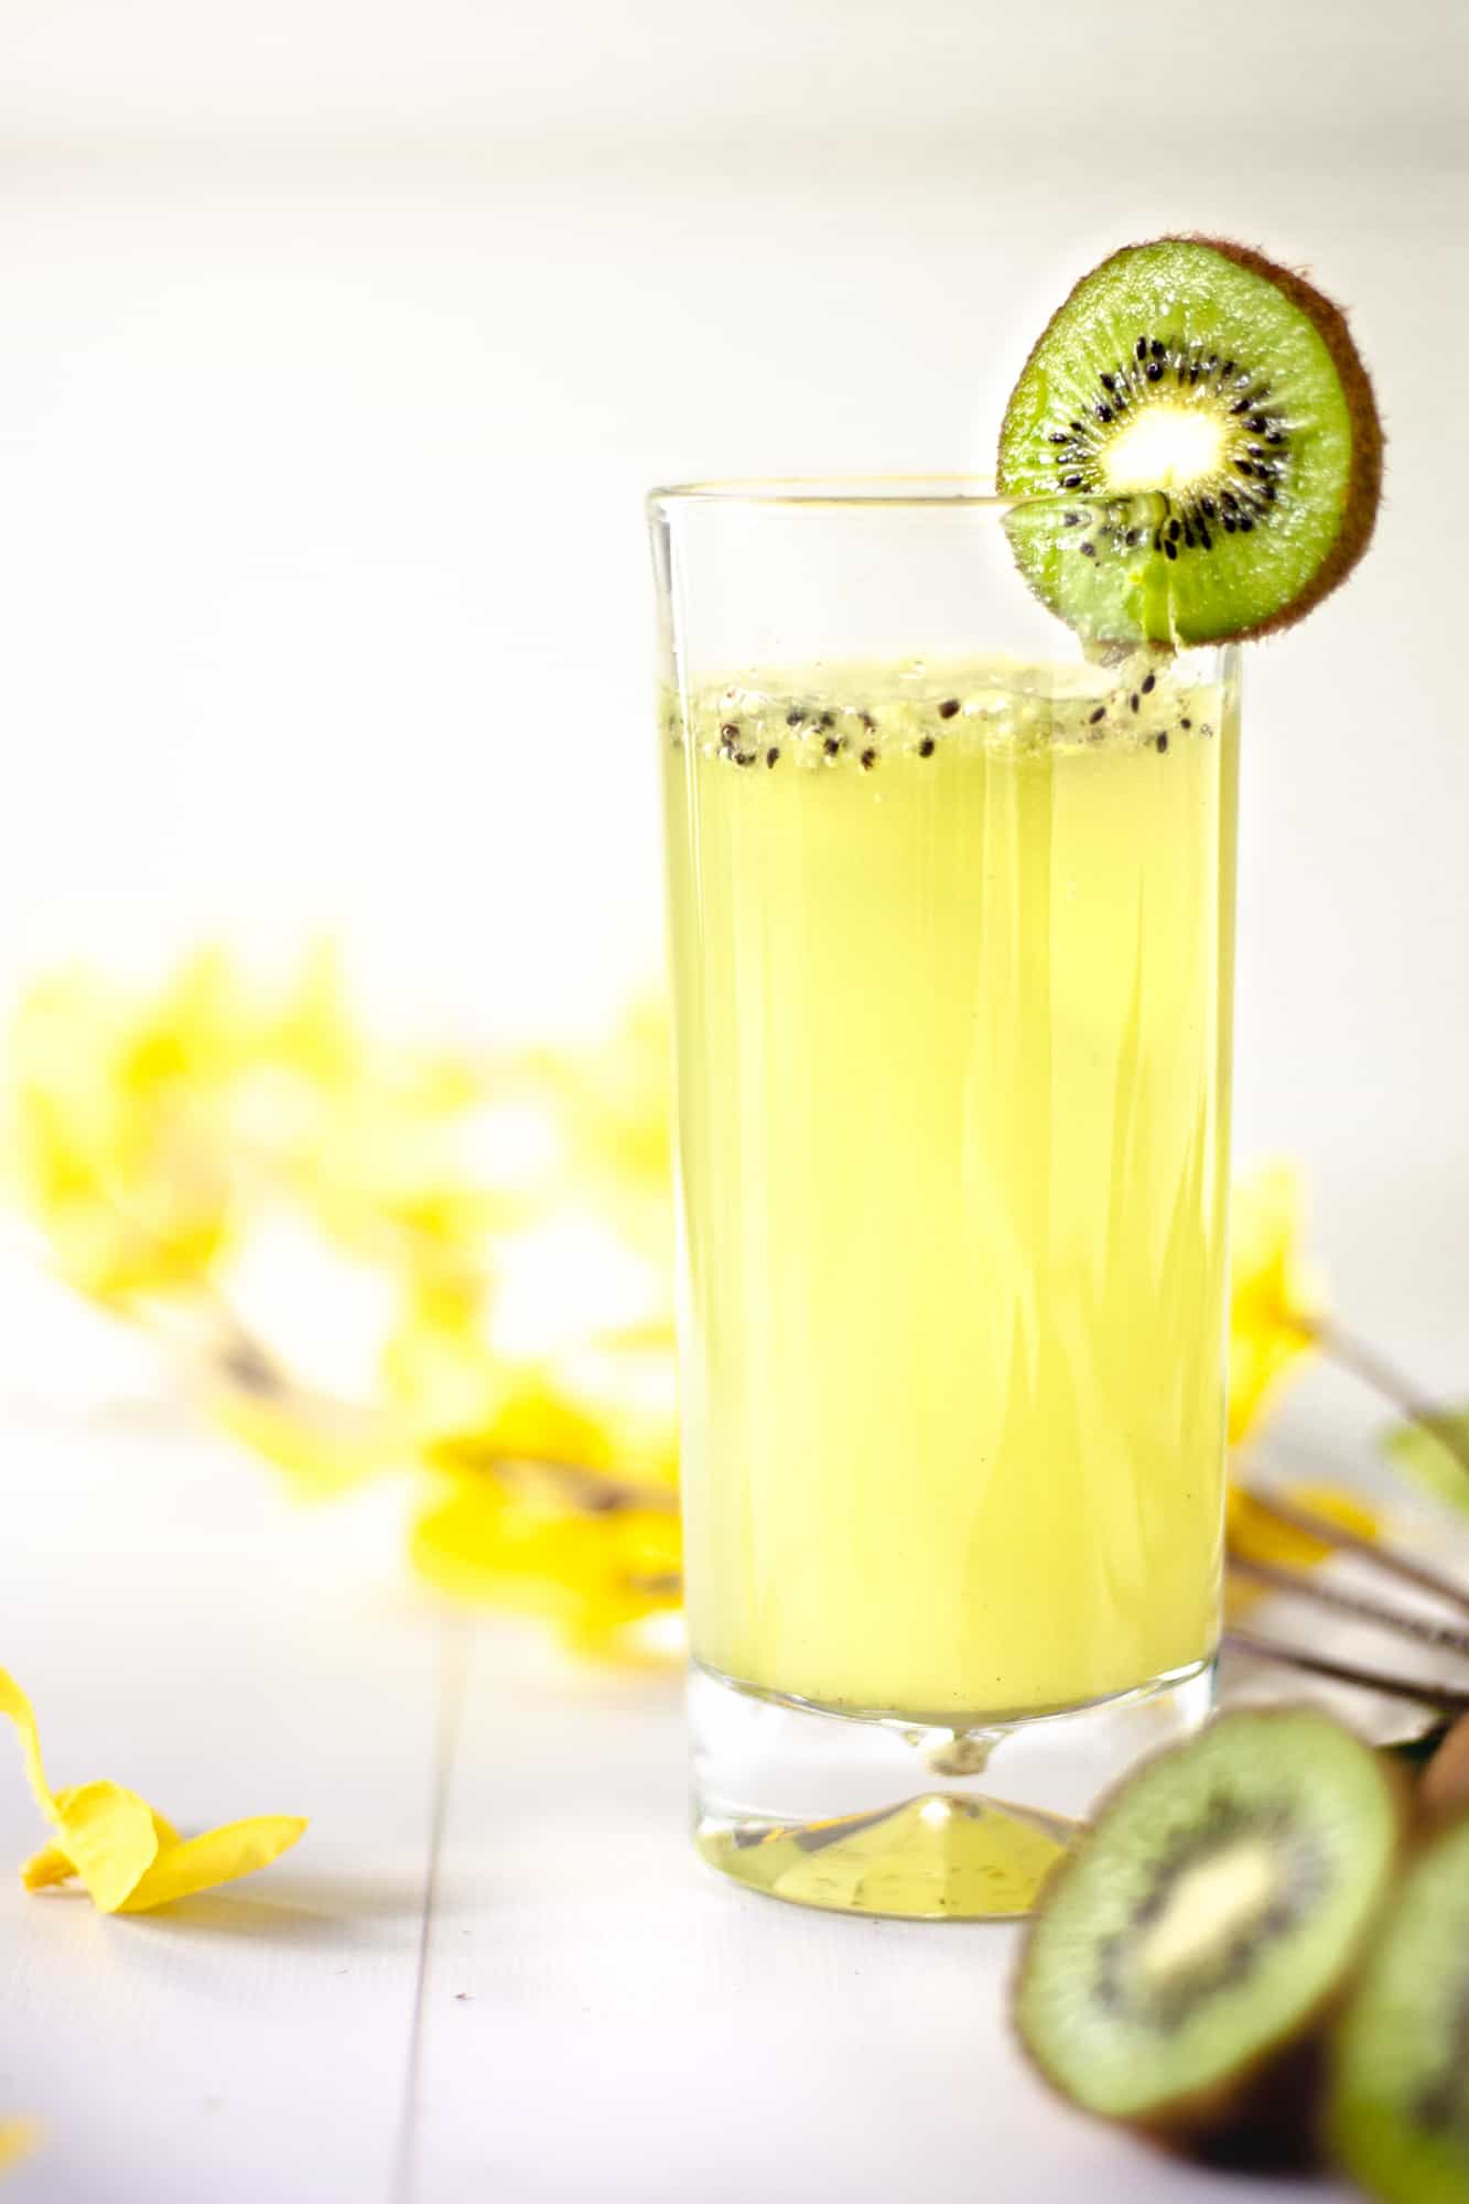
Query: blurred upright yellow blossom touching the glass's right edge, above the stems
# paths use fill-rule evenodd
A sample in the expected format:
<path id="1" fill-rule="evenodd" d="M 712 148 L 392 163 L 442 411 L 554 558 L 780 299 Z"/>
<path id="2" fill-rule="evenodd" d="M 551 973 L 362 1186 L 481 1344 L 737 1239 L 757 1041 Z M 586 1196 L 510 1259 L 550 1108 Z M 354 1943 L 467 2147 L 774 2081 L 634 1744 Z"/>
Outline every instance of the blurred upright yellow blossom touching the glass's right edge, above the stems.
<path id="1" fill-rule="evenodd" d="M 1229 1300 L 1229 1444 L 1255 1428 L 1286 1371 L 1308 1353 L 1321 1292 L 1299 1256 L 1301 1186 L 1286 1164 L 1235 1186 Z"/>

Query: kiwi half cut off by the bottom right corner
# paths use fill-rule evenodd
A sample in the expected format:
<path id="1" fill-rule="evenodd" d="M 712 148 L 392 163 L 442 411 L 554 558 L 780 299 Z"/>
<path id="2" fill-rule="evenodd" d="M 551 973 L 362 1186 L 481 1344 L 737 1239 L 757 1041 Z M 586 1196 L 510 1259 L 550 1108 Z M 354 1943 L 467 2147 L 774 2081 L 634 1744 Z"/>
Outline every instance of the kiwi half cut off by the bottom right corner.
<path id="1" fill-rule="evenodd" d="M 1326 2136 L 1385 2204 L 1469 2204 L 1469 1818 L 1409 1867 L 1332 2043 Z"/>

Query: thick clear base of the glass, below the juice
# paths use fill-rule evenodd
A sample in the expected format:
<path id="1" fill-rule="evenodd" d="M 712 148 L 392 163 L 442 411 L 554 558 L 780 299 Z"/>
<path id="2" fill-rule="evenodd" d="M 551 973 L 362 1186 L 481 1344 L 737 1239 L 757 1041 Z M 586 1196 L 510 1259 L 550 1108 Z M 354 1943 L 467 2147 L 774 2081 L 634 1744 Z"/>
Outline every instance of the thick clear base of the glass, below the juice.
<path id="1" fill-rule="evenodd" d="M 1015 1920 L 1096 1798 L 1209 1719 L 1213 1682 L 1198 1662 L 1090 1706 L 942 1728 L 779 1699 L 695 1664 L 695 1845 L 798 1906 Z"/>

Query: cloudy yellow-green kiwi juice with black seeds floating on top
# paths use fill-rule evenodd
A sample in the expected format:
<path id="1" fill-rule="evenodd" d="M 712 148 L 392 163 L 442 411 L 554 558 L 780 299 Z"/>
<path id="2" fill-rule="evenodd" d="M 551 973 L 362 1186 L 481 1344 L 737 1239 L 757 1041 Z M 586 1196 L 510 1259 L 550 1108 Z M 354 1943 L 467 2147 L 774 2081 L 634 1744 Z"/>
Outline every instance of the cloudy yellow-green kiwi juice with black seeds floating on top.
<path id="1" fill-rule="evenodd" d="M 829 666 L 662 727 L 695 1657 L 931 1721 L 1204 1660 L 1233 696 Z"/>

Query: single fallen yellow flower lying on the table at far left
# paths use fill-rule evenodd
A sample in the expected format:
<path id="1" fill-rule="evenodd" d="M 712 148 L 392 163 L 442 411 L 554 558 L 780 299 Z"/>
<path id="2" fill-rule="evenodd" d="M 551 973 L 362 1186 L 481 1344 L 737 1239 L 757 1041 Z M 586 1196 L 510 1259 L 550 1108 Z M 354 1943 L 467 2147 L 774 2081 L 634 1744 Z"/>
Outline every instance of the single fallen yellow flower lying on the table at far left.
<path id="1" fill-rule="evenodd" d="M 24 1690 L 0 1668 L 0 1715 L 20 1730 L 26 1776 L 55 1838 L 20 1869 L 29 1891 L 84 1884 L 99 1913 L 148 1913 L 236 1876 L 269 1867 L 307 1829 L 293 1814 L 258 1814 L 207 1836 L 181 1838 L 154 1807 L 121 1783 L 82 1783 L 53 1792 L 42 1768 L 35 1715 Z"/>

